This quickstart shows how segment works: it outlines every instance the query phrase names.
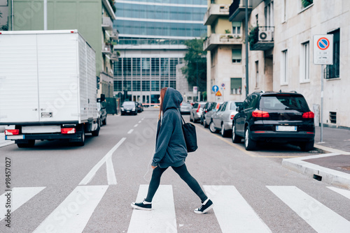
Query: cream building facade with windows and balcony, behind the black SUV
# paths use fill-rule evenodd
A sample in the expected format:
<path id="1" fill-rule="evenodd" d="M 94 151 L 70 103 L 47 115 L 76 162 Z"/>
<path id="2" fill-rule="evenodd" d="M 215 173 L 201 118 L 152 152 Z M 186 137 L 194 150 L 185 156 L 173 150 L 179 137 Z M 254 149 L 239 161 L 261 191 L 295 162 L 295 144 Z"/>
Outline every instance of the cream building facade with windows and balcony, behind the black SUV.
<path id="1" fill-rule="evenodd" d="M 230 20 L 244 12 L 240 1 L 230 6 Z M 334 0 L 253 0 L 248 15 L 249 93 L 297 91 L 306 98 L 315 123 L 321 121 L 321 73 L 324 74 L 323 123 L 350 127 L 350 2 Z M 239 18 L 244 22 L 244 17 Z M 333 65 L 314 64 L 314 35 L 333 35 Z M 242 56 L 245 63 L 245 56 Z"/>

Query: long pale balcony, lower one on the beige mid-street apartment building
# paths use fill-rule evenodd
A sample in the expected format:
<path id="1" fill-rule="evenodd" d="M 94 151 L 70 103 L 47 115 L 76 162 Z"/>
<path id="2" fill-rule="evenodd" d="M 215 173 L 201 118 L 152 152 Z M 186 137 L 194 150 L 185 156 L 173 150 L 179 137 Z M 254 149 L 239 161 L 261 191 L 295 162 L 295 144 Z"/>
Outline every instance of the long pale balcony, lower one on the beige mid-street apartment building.
<path id="1" fill-rule="evenodd" d="M 241 34 L 211 34 L 204 40 L 203 49 L 211 51 L 218 45 L 241 45 L 242 43 Z"/>

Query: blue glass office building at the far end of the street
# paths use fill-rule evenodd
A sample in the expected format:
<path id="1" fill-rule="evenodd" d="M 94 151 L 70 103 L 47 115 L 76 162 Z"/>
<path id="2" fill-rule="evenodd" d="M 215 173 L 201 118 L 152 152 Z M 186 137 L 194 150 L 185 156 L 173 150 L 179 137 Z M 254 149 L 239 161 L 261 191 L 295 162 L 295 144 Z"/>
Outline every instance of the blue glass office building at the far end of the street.
<path id="1" fill-rule="evenodd" d="M 176 65 L 186 54 L 184 41 L 207 36 L 203 0 L 116 0 L 114 27 L 114 94 L 129 100 L 158 103 L 162 87 L 176 87 Z"/>

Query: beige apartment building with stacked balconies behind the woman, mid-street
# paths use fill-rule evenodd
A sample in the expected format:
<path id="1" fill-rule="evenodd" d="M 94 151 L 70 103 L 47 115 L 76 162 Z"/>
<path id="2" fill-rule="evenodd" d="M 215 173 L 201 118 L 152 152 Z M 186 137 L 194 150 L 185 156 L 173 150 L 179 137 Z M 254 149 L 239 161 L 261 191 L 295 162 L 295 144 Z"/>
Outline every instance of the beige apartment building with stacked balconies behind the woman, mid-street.
<path id="1" fill-rule="evenodd" d="M 244 24 L 240 19 L 230 22 L 231 3 L 231 0 L 208 1 L 204 16 L 204 25 L 208 27 L 203 48 L 207 51 L 209 101 L 244 100 Z M 219 87 L 220 96 L 213 91 L 214 86 Z"/>

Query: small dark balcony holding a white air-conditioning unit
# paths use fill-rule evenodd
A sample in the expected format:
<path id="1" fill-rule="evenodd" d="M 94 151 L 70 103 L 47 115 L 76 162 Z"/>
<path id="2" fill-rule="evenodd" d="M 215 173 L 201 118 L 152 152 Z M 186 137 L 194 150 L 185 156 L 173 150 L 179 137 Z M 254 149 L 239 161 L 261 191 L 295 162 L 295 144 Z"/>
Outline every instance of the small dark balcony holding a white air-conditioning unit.
<path id="1" fill-rule="evenodd" d="M 269 50 L 274 47 L 274 27 L 255 27 L 249 33 L 251 50 Z"/>

